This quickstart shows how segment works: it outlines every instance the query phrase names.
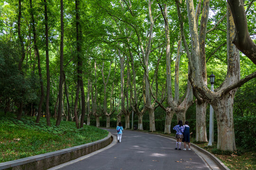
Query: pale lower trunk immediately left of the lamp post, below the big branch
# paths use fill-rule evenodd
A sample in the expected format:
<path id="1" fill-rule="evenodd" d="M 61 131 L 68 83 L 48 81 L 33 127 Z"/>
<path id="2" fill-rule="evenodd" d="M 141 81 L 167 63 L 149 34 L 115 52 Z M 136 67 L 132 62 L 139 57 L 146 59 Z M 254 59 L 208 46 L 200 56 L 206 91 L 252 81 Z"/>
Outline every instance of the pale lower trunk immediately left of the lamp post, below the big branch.
<path id="1" fill-rule="evenodd" d="M 206 106 L 207 102 L 196 103 L 196 141 L 208 142 L 206 133 Z"/>

